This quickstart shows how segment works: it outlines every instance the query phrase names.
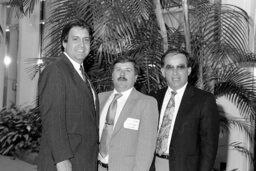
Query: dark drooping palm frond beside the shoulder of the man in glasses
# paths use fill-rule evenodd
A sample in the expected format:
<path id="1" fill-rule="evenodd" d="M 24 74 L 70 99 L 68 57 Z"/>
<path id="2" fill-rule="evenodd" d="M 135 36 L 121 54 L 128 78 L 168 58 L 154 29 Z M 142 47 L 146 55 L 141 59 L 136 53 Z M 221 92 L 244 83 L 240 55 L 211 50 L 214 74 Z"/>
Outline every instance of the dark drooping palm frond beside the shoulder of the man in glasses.
<path id="1" fill-rule="evenodd" d="M 250 121 L 255 119 L 252 102 L 256 98 L 255 80 L 252 74 L 243 68 L 226 66 L 214 75 L 216 97 L 225 96 L 236 105 L 241 115 Z"/>

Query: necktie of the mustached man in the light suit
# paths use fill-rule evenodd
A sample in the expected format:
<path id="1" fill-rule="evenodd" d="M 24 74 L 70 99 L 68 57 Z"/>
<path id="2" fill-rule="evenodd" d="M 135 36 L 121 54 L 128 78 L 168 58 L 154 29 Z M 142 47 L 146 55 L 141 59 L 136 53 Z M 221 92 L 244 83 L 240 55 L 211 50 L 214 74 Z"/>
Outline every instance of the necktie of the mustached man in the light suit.
<path id="1" fill-rule="evenodd" d="M 106 155 L 108 154 L 109 142 L 112 136 L 114 120 L 116 116 L 117 99 L 120 98 L 121 96 L 122 96 L 121 93 L 115 94 L 115 97 L 110 103 L 108 108 L 106 123 L 102 131 L 101 140 L 100 140 L 100 154 L 103 158 L 106 157 Z"/>

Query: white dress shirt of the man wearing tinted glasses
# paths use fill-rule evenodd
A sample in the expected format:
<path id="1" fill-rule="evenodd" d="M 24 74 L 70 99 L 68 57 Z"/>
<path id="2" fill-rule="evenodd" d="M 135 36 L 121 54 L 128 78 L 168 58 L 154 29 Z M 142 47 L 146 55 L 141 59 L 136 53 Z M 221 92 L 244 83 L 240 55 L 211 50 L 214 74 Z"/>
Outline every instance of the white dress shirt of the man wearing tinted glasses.
<path id="1" fill-rule="evenodd" d="M 172 124 L 171 124 L 170 133 L 169 133 L 169 136 L 168 136 L 168 145 L 167 145 L 167 149 L 164 152 L 164 154 L 169 154 L 169 147 L 170 147 L 170 142 L 171 142 L 171 137 L 172 137 L 172 133 L 173 133 L 173 128 L 174 128 L 175 120 L 176 120 L 177 113 L 178 113 L 178 110 L 179 110 L 179 107 L 180 107 L 180 102 L 181 102 L 181 99 L 183 97 L 183 94 L 184 94 L 184 91 L 185 91 L 186 87 L 187 87 L 187 83 L 182 88 L 176 90 L 177 94 L 174 96 L 175 108 L 174 108 L 174 113 L 173 113 L 173 117 L 172 117 Z M 162 108 L 161 108 L 158 131 L 161 128 L 163 117 L 164 117 L 164 113 L 165 113 L 165 109 L 167 107 L 169 99 L 171 98 L 171 92 L 172 91 L 173 90 L 168 86 L 168 89 L 167 89 L 167 91 L 165 93 L 165 96 L 164 96 Z"/>

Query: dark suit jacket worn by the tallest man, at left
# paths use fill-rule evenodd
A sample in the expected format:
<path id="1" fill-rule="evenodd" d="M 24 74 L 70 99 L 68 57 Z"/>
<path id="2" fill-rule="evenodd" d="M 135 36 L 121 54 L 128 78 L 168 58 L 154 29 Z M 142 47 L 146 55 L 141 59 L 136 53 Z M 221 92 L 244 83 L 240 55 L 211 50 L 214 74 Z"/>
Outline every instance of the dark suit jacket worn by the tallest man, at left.
<path id="1" fill-rule="evenodd" d="M 55 171 L 69 159 L 74 171 L 96 171 L 98 155 L 98 99 L 96 109 L 89 88 L 62 54 L 47 66 L 39 80 L 42 138 L 38 170 Z"/>

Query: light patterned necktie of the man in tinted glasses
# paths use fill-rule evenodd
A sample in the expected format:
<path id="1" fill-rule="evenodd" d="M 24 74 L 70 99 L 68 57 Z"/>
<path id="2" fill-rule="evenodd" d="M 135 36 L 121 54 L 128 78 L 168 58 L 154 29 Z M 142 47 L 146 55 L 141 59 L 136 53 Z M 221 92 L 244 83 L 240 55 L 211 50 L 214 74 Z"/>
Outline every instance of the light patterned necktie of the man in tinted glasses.
<path id="1" fill-rule="evenodd" d="M 175 107 L 174 96 L 177 94 L 177 92 L 172 91 L 171 93 L 172 95 L 165 109 L 162 125 L 159 130 L 156 142 L 156 153 L 159 155 L 162 155 L 167 150 L 168 145 L 168 136 L 171 129 L 172 117 Z"/>

